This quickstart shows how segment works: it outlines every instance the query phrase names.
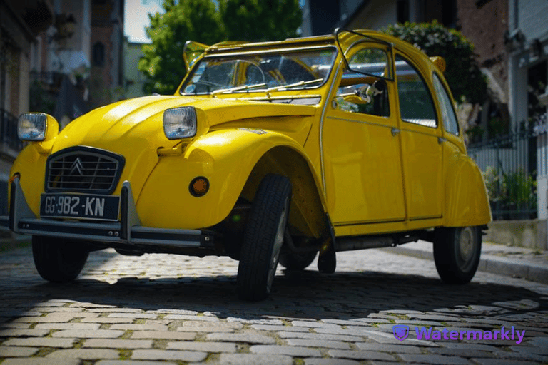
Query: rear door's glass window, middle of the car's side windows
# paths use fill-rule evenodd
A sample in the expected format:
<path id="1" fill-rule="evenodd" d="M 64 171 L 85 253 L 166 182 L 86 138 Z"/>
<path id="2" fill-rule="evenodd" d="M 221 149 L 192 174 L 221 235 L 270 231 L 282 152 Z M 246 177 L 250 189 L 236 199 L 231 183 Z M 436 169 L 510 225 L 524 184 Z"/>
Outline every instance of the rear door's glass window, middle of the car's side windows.
<path id="1" fill-rule="evenodd" d="M 402 120 L 436 128 L 434 101 L 425 81 L 418 71 L 399 55 L 396 56 L 396 80 Z"/>

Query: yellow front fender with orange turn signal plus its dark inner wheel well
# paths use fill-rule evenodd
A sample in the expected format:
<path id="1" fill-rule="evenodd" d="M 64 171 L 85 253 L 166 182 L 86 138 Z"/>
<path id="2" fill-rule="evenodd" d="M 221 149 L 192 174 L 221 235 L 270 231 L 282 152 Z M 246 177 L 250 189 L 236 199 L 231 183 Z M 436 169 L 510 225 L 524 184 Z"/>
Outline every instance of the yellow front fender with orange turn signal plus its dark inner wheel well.
<path id="1" fill-rule="evenodd" d="M 299 143 L 274 130 L 216 130 L 188 145 L 181 155 L 161 156 L 143 190 L 136 192 L 137 212 L 143 225 L 151 227 L 230 228 L 236 220 L 243 223 L 244 215 L 235 209 L 242 200 L 253 202 L 268 173 L 291 181 L 289 219 L 295 233 L 328 235 L 325 199 L 313 163 Z M 210 181 L 203 197 L 188 191 L 196 176 Z"/>

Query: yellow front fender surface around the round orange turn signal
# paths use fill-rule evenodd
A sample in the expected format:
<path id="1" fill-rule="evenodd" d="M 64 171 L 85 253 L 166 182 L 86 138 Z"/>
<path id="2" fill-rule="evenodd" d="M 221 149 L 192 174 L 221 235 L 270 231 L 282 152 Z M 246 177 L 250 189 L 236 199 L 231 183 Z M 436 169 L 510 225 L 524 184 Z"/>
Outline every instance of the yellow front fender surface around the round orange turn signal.
<path id="1" fill-rule="evenodd" d="M 141 223 L 179 229 L 216 225 L 233 209 L 258 161 L 280 146 L 307 161 L 318 189 L 318 174 L 295 140 L 270 130 L 217 130 L 198 138 L 180 155 L 161 156 L 136 202 Z M 198 176 L 210 182 L 203 197 L 189 192 L 191 180 Z M 323 197 L 320 200 L 325 207 Z"/>

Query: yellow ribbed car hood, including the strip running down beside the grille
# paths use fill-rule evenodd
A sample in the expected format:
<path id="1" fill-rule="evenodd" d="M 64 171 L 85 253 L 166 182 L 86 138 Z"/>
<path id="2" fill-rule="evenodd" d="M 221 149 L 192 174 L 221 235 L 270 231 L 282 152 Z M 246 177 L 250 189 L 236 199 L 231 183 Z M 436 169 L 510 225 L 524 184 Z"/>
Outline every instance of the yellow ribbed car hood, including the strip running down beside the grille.
<path id="1" fill-rule="evenodd" d="M 197 109 L 198 130 L 201 133 L 207 133 L 210 126 L 233 120 L 305 116 L 313 115 L 316 110 L 314 106 L 226 101 L 218 98 L 146 96 L 103 106 L 73 120 L 57 135 L 51 153 L 75 145 L 85 145 L 122 155 L 126 163 L 121 181 L 131 181 L 137 198 L 146 177 L 158 163 L 158 148 L 173 148 L 179 143 L 179 140 L 166 138 L 162 120 L 163 110 L 178 106 L 194 106 Z M 119 193 L 118 190 L 115 193 Z"/>

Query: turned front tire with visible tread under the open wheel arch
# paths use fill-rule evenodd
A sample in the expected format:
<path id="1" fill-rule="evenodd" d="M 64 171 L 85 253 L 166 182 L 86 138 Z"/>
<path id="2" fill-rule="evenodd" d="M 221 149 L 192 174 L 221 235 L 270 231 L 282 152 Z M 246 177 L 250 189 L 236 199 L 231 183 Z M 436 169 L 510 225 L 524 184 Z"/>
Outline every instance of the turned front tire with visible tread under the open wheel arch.
<path id="1" fill-rule="evenodd" d="M 258 187 L 238 264 L 240 299 L 258 301 L 270 294 L 288 222 L 290 195 L 290 180 L 283 175 L 266 175 Z"/>

